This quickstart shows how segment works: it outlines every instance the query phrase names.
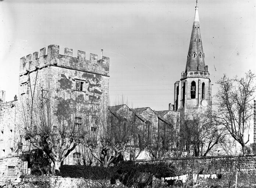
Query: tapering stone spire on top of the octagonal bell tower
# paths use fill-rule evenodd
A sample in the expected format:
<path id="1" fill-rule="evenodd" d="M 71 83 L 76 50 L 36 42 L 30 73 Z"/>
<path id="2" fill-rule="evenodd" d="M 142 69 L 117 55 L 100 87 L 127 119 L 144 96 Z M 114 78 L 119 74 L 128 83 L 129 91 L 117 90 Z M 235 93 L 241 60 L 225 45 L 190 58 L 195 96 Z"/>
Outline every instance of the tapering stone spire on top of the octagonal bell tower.
<path id="1" fill-rule="evenodd" d="M 207 71 L 205 70 L 205 54 L 203 53 L 197 1 L 185 72 L 186 71 Z"/>

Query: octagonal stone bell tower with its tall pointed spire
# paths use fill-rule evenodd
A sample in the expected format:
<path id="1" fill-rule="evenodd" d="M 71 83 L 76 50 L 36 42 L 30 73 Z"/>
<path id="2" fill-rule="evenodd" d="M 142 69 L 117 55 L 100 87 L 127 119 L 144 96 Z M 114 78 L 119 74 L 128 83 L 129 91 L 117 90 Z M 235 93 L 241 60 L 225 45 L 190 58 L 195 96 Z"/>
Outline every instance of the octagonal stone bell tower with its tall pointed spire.
<path id="1" fill-rule="evenodd" d="M 211 80 L 200 32 L 198 6 L 191 33 L 185 72 L 174 84 L 174 110 L 182 114 L 205 113 L 211 108 Z"/>

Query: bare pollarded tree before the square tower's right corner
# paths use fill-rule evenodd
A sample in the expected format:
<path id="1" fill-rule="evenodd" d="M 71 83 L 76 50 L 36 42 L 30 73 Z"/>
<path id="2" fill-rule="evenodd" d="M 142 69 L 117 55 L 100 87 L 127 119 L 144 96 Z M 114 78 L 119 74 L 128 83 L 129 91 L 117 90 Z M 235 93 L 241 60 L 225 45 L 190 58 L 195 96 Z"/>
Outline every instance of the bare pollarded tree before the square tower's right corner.
<path id="1" fill-rule="evenodd" d="M 90 122 L 83 130 L 83 145 L 105 167 L 122 160 L 122 154 L 131 146 L 134 134 L 138 133 L 137 117 L 131 109 L 126 105 L 110 108 L 84 105 L 81 116 L 89 117 Z"/>

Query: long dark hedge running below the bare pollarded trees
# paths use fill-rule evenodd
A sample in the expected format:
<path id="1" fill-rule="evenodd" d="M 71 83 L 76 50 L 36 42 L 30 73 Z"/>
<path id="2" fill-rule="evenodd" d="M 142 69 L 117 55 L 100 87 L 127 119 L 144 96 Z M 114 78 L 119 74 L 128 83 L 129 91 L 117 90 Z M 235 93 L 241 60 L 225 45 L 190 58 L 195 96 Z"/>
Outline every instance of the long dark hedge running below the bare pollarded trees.
<path id="1" fill-rule="evenodd" d="M 62 177 L 82 177 L 91 180 L 123 179 L 125 176 L 134 178 L 142 173 L 149 173 L 157 178 L 177 176 L 175 167 L 167 163 L 121 162 L 113 167 L 83 165 L 62 165 L 60 167 Z"/>

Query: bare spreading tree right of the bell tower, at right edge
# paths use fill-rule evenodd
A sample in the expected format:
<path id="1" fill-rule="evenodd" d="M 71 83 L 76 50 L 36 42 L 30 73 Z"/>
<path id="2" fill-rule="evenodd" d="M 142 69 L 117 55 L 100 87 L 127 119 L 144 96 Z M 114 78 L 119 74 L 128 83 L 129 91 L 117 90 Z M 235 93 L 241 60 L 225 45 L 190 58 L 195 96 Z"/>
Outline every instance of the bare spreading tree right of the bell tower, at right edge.
<path id="1" fill-rule="evenodd" d="M 245 145 L 249 142 L 249 134 L 247 138 L 245 136 L 253 115 L 255 77 L 254 73 L 248 71 L 242 78 L 230 79 L 224 75 L 217 82 L 220 88 L 216 95 L 217 109 L 212 118 L 227 129 L 234 140 L 241 145 L 243 153 L 245 153 Z"/>

